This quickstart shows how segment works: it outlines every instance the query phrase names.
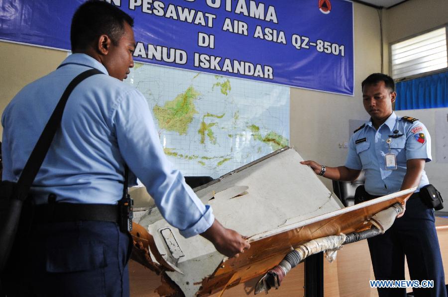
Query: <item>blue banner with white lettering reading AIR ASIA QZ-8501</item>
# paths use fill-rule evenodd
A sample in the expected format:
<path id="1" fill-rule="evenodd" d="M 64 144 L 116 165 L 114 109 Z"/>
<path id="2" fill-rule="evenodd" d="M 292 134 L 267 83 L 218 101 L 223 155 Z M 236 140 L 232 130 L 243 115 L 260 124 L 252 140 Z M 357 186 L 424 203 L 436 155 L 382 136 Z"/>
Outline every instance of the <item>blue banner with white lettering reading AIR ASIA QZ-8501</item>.
<path id="1" fill-rule="evenodd" d="M 70 50 L 83 0 L 2 0 L 0 39 Z M 135 20 L 135 61 L 353 95 L 347 0 L 108 0 Z"/>

